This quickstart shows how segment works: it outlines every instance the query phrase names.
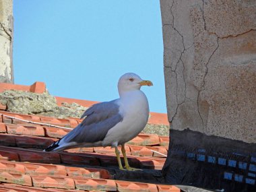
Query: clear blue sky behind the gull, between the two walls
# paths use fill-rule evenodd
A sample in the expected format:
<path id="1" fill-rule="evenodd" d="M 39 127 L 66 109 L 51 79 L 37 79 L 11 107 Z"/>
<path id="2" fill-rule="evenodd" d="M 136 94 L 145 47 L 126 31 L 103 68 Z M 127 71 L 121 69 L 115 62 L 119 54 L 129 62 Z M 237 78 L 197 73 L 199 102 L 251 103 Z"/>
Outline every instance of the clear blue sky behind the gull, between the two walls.
<path id="1" fill-rule="evenodd" d="M 54 96 L 108 101 L 134 72 L 150 111 L 166 113 L 159 1 L 13 0 L 15 84 L 45 82 Z"/>

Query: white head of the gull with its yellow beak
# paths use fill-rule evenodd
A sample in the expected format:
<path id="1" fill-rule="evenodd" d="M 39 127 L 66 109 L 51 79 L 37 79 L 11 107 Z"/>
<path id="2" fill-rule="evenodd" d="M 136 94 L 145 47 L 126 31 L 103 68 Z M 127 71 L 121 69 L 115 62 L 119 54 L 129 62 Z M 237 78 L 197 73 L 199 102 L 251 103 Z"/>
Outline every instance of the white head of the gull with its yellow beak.
<path id="1" fill-rule="evenodd" d="M 141 86 L 153 86 L 149 80 L 143 80 L 135 73 L 125 73 L 122 75 L 118 82 L 119 94 L 131 90 L 139 90 Z"/>

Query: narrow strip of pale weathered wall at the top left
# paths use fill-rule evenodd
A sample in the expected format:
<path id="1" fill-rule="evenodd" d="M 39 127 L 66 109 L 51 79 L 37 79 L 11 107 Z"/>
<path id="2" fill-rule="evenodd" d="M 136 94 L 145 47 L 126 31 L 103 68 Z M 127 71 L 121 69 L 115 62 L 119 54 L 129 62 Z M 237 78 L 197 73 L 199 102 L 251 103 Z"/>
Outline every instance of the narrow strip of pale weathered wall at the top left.
<path id="1" fill-rule="evenodd" d="M 13 83 L 13 1 L 0 0 L 0 82 Z"/>

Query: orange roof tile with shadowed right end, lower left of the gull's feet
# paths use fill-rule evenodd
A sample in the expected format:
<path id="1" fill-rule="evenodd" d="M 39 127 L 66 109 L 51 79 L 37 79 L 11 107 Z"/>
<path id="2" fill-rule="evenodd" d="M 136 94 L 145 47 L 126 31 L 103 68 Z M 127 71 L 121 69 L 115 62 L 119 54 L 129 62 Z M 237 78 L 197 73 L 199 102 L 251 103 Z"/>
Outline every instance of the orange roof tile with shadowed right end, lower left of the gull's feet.
<path id="1" fill-rule="evenodd" d="M 93 179 L 110 179 L 108 170 L 101 168 L 79 168 L 66 167 L 67 175 L 70 177 L 88 177 Z"/>

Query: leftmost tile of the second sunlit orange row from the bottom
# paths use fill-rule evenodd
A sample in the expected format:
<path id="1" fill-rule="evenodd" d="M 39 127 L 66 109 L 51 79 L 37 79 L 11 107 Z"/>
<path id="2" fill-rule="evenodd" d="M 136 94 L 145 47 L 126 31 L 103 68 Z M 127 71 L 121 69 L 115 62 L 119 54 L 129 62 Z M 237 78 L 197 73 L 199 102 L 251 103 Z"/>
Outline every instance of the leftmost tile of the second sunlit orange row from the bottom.
<path id="1" fill-rule="evenodd" d="M 0 160 L 0 172 L 9 172 L 13 174 L 25 174 L 25 167 L 16 162 Z"/>

